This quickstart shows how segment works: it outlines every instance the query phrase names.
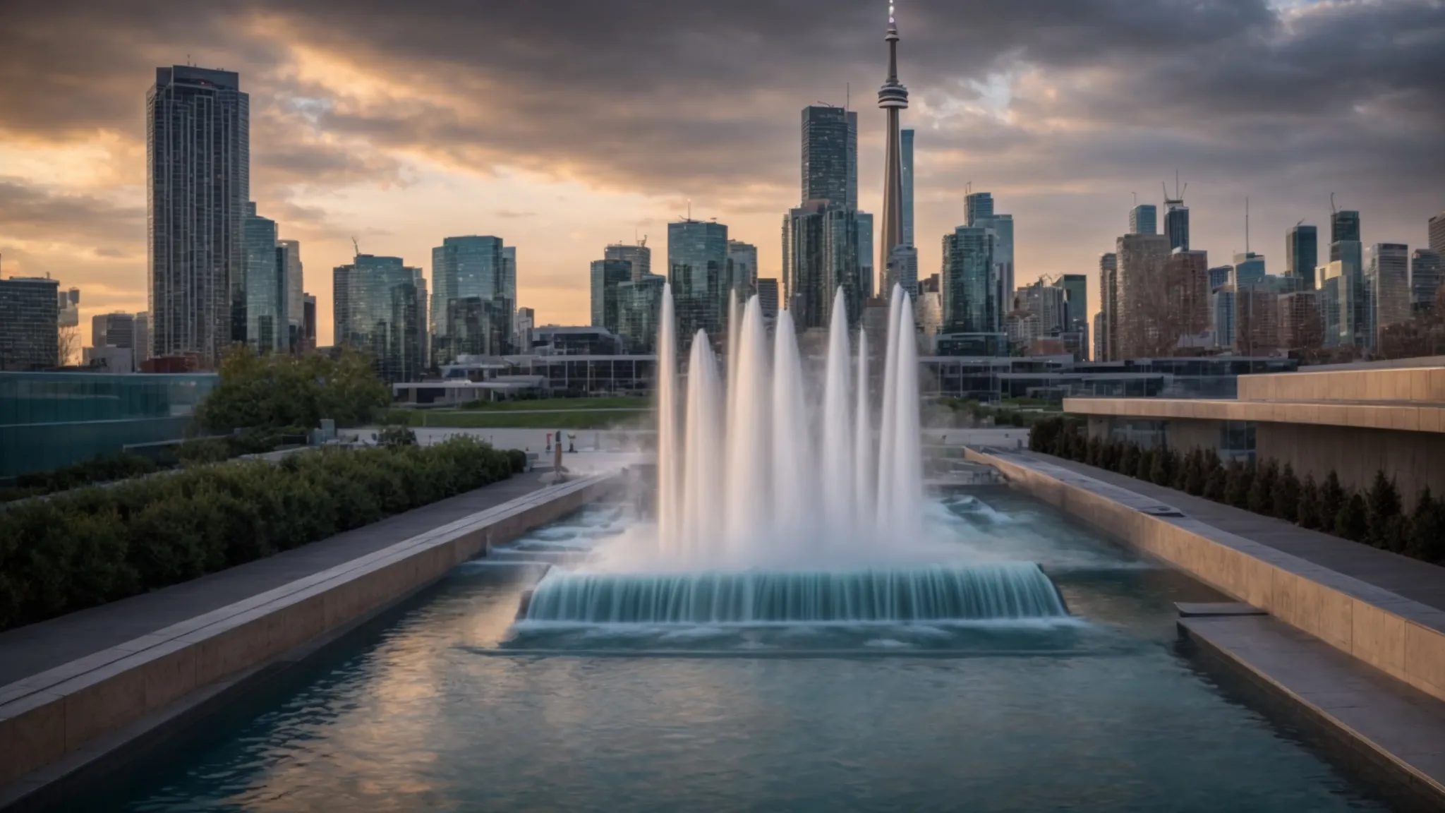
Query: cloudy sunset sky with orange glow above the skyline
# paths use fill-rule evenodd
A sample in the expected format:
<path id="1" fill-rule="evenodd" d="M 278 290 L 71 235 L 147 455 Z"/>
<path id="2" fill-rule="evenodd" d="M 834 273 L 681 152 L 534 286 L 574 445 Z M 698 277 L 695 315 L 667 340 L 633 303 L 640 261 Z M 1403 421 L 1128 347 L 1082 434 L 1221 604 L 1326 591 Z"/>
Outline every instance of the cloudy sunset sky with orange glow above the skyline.
<path id="1" fill-rule="evenodd" d="M 158 65 L 240 71 L 251 197 L 331 268 L 428 266 L 451 234 L 517 246 L 520 304 L 588 312 L 587 263 L 666 247 L 692 201 L 776 276 L 799 110 L 861 111 L 879 211 L 884 0 L 3 0 L 0 273 L 146 307 L 144 101 Z M 923 273 L 964 188 L 1013 213 L 1020 282 L 1087 272 L 1127 210 L 1188 181 L 1194 247 L 1283 268 L 1289 226 L 1425 243 L 1445 210 L 1445 0 L 900 0 Z M 1091 299 L 1095 291 L 1091 289 Z M 1097 310 L 1097 299 L 1091 301 Z"/>

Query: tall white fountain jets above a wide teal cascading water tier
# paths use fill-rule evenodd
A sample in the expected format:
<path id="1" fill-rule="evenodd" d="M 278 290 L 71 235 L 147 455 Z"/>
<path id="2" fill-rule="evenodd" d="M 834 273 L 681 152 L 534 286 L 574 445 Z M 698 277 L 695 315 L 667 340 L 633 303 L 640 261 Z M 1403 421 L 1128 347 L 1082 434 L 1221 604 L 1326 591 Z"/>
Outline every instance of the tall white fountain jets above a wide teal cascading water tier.
<path id="1" fill-rule="evenodd" d="M 656 525 L 577 571 L 553 570 L 523 618 L 565 623 L 793 623 L 1062 618 L 1033 563 L 959 563 L 923 527 L 913 305 L 889 304 L 881 409 L 868 336 L 851 352 L 834 298 L 821 408 L 793 315 L 769 339 L 753 297 L 728 307 L 727 375 L 699 330 L 679 388 L 670 286 L 657 352 Z M 815 398 L 816 399 L 816 398 Z M 948 564 L 944 561 L 954 560 Z"/>

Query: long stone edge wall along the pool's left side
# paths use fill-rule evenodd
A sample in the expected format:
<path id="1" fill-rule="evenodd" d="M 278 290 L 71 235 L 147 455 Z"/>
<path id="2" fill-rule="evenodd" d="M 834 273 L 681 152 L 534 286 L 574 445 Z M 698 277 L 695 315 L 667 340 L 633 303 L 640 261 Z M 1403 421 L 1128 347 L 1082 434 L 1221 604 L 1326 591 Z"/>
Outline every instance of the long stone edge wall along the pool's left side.
<path id="1" fill-rule="evenodd" d="M 0 686 L 0 809 L 55 765 L 439 579 L 493 544 L 605 496 L 616 473 L 539 489 L 305 579 Z M 144 732 L 134 732 L 137 736 Z M 101 754 L 95 754 L 101 757 Z"/>

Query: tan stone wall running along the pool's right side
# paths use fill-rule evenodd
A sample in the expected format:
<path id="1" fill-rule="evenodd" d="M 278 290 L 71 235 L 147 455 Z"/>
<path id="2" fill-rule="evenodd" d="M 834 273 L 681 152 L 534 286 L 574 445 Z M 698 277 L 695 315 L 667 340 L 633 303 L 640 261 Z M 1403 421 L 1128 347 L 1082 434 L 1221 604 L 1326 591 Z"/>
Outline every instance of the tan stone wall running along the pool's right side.
<path id="1" fill-rule="evenodd" d="M 970 448 L 1013 488 L 1445 700 L 1445 612 L 1192 519 L 1159 502 L 1049 463 Z M 1445 577 L 1445 576 L 1442 576 Z"/>

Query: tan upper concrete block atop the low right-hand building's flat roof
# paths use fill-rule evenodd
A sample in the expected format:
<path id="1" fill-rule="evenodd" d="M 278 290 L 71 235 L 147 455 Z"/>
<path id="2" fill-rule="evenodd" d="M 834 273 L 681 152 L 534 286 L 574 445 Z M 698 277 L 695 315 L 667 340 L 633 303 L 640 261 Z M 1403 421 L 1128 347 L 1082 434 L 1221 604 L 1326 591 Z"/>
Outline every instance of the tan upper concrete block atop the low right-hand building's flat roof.
<path id="1" fill-rule="evenodd" d="M 1445 367 L 1240 376 L 1240 401 L 1413 401 L 1445 404 Z"/>

